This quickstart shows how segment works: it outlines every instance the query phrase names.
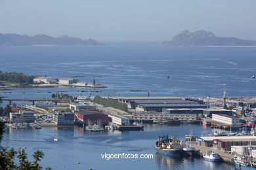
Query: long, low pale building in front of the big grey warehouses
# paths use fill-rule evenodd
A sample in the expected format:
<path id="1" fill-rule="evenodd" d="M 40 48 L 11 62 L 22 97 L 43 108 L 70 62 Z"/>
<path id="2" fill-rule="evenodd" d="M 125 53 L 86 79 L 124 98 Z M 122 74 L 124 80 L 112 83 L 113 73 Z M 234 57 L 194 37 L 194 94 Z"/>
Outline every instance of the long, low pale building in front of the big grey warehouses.
<path id="1" fill-rule="evenodd" d="M 133 114 L 134 120 L 197 120 L 198 114 L 161 114 L 161 113 L 140 113 Z"/>

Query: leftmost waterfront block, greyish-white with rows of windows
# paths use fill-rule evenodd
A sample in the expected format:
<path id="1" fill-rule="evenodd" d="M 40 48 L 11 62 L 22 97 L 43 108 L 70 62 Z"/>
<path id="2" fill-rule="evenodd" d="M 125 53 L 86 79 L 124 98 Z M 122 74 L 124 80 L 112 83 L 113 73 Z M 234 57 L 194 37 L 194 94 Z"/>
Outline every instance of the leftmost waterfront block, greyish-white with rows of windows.
<path id="1" fill-rule="evenodd" d="M 10 112 L 12 123 L 31 123 L 35 121 L 33 112 Z"/>

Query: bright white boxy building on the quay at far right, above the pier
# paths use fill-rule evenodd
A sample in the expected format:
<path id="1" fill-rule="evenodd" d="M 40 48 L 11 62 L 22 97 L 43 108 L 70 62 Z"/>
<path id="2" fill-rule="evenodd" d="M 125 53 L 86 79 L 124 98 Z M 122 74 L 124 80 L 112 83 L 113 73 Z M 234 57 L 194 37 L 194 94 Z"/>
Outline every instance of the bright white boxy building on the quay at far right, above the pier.
<path id="1" fill-rule="evenodd" d="M 212 114 L 212 120 L 221 122 L 223 124 L 228 124 L 231 126 L 240 126 L 239 118 L 234 116 L 228 116 L 226 114 Z"/>

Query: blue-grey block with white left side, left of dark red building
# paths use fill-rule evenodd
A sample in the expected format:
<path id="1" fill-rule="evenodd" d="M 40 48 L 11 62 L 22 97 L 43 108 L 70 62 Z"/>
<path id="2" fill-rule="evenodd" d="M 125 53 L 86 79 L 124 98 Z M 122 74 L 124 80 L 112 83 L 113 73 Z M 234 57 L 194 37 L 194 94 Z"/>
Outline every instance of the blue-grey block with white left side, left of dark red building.
<path id="1" fill-rule="evenodd" d="M 56 125 L 74 125 L 74 113 L 64 112 L 53 116 L 53 122 Z"/>

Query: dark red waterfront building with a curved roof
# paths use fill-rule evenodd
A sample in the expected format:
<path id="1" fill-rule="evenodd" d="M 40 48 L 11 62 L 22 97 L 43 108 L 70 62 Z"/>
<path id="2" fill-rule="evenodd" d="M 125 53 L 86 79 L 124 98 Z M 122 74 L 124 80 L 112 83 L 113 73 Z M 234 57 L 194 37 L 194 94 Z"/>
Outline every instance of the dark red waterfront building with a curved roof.
<path id="1" fill-rule="evenodd" d="M 75 110 L 75 117 L 77 120 L 87 124 L 87 122 L 91 122 L 92 124 L 97 124 L 101 122 L 101 124 L 108 124 L 108 114 L 104 114 L 98 110 Z"/>

